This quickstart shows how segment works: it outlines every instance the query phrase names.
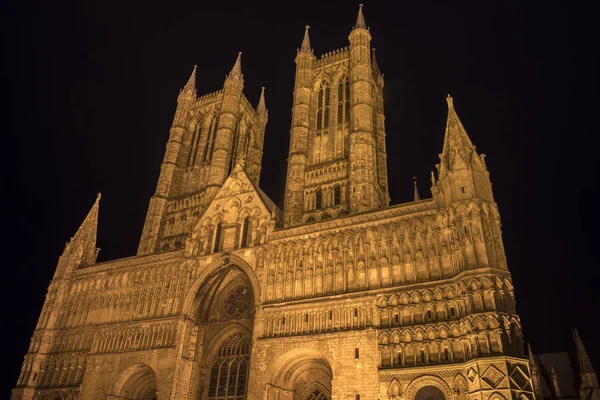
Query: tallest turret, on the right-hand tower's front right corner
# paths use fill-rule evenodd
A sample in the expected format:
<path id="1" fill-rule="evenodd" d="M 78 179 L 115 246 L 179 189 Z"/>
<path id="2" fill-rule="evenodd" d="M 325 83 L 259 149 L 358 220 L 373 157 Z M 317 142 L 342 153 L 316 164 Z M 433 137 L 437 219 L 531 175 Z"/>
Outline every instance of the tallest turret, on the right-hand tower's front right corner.
<path id="1" fill-rule="evenodd" d="M 358 11 L 350 40 L 350 211 L 369 211 L 383 206 L 377 177 L 377 139 L 374 137 L 371 34 Z M 386 204 L 387 205 L 387 204 Z"/>

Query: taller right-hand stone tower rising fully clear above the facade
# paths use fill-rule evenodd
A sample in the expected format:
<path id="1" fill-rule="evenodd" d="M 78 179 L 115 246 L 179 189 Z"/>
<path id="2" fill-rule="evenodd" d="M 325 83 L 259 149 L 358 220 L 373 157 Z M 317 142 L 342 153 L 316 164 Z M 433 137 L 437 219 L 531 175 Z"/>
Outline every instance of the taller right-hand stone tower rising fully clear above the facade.
<path id="1" fill-rule="evenodd" d="M 362 6 L 349 47 L 317 59 L 308 29 L 296 56 L 286 227 L 389 205 L 383 77 Z"/>

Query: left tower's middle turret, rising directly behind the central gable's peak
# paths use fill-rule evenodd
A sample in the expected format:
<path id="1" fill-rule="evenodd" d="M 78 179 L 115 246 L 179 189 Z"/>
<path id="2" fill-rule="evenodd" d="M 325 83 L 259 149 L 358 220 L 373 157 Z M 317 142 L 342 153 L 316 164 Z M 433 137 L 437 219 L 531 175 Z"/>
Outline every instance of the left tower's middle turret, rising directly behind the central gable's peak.
<path id="1" fill-rule="evenodd" d="M 219 114 L 214 150 L 208 176 L 207 196 L 214 197 L 229 176 L 233 139 L 240 110 L 240 98 L 244 88 L 242 53 L 238 57 L 223 85 L 223 102 Z"/>

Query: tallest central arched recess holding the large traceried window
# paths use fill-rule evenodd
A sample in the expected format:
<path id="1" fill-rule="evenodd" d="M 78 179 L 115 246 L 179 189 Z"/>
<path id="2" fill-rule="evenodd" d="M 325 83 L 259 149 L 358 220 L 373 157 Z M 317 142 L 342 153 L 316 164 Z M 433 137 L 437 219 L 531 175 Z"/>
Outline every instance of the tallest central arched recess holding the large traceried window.
<path id="1" fill-rule="evenodd" d="M 251 280 L 234 264 L 217 268 L 200 285 L 192 308 L 198 364 L 191 398 L 245 399 L 255 301 Z"/>

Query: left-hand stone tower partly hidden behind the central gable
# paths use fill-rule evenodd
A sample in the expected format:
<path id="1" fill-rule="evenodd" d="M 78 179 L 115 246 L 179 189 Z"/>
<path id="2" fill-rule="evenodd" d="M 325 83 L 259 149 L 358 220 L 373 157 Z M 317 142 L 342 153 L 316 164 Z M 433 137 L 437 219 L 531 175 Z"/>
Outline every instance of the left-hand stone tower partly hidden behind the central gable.
<path id="1" fill-rule="evenodd" d="M 196 97 L 196 67 L 177 99 L 156 192 L 150 200 L 138 254 L 182 248 L 233 168 L 258 185 L 267 110 L 242 90 L 242 53 L 223 89 Z"/>

